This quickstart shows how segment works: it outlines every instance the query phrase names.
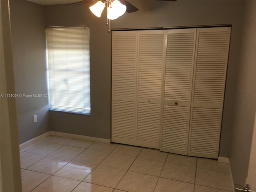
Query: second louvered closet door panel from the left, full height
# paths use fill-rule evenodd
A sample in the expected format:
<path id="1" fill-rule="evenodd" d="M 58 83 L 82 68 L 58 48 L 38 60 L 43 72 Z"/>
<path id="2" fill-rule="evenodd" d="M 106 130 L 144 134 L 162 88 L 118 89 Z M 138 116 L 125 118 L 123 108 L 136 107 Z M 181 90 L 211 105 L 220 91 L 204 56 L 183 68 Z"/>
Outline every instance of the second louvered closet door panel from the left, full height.
<path id="1" fill-rule="evenodd" d="M 138 31 L 136 145 L 159 149 L 164 30 Z"/>

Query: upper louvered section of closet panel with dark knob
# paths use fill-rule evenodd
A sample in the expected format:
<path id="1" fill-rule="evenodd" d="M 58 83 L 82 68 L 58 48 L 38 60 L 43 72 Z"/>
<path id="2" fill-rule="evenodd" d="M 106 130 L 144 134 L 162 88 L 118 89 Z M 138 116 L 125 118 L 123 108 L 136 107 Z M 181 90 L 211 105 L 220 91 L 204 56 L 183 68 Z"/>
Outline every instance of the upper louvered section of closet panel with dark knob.
<path id="1" fill-rule="evenodd" d="M 190 101 L 195 29 L 169 30 L 167 36 L 164 99 Z"/>

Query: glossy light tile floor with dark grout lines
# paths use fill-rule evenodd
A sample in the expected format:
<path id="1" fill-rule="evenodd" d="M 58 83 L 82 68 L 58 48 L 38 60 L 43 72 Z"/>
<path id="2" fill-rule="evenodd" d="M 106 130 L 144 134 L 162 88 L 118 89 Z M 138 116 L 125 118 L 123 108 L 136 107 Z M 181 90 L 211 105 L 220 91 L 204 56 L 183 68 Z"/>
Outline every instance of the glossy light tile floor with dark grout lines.
<path id="1" fill-rule="evenodd" d="M 48 136 L 20 150 L 23 192 L 227 192 L 217 160 Z"/>

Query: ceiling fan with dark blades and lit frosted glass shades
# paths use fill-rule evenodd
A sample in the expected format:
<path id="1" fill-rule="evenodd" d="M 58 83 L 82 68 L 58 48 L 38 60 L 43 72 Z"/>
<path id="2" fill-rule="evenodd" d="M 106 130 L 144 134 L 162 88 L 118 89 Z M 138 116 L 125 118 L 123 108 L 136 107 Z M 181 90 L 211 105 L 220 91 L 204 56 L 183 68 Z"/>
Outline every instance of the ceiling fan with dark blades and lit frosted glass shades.
<path id="1" fill-rule="evenodd" d="M 67 4 L 65 6 L 70 6 L 74 4 L 80 4 L 80 3 L 88 3 L 92 1 L 94 0 L 81 0 L 71 4 Z M 176 0 L 156 0 L 156 1 L 176 1 Z M 109 26 L 110 20 L 117 19 L 118 17 L 122 16 L 125 12 L 133 13 L 139 10 L 127 0 L 98 0 L 94 5 L 90 6 L 90 10 L 95 16 L 101 17 L 102 11 L 104 10 L 105 7 L 107 8 L 107 26 Z M 110 32 L 110 26 L 109 26 L 108 32 Z"/>

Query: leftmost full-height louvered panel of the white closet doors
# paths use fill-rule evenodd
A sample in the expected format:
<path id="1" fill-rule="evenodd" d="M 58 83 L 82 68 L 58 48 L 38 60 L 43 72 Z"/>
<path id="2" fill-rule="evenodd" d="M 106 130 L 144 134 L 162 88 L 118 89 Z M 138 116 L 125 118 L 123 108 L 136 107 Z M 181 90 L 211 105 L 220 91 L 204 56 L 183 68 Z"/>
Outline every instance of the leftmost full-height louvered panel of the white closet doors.
<path id="1" fill-rule="evenodd" d="M 112 32 L 112 142 L 134 145 L 136 31 Z"/>

